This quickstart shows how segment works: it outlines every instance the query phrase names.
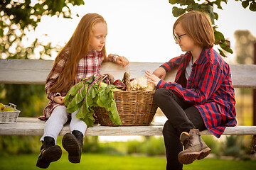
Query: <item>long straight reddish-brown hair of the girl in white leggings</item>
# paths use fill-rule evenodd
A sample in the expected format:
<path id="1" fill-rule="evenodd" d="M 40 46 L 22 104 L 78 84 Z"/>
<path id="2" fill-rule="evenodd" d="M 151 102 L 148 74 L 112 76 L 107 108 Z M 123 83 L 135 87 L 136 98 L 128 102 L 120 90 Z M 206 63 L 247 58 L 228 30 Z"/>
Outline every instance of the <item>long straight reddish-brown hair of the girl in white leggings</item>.
<path id="1" fill-rule="evenodd" d="M 72 37 L 55 58 L 53 69 L 56 67 L 58 62 L 62 60 L 63 57 L 61 54 L 63 52 L 68 52 L 68 59 L 65 62 L 63 70 L 60 72 L 58 80 L 50 88 L 51 92 L 67 90 L 74 84 L 74 80 L 78 72 L 78 62 L 82 57 L 85 57 L 88 54 L 93 27 L 95 26 L 95 23 L 100 22 L 106 23 L 105 19 L 97 13 L 87 13 L 82 17 Z M 102 48 L 102 55 L 104 57 L 103 60 L 106 60 L 107 55 L 105 46 Z M 53 69 L 48 75 L 46 81 L 48 81 L 52 76 Z"/>

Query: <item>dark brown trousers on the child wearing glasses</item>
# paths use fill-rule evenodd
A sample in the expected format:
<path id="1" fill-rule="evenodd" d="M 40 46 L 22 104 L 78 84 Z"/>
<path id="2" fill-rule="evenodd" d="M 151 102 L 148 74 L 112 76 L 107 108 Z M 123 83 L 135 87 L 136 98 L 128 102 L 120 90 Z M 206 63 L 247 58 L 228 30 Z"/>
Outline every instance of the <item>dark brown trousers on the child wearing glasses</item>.
<path id="1" fill-rule="evenodd" d="M 163 135 L 166 147 L 166 169 L 182 169 L 178 162 L 178 153 L 183 150 L 179 137 L 181 132 L 191 129 L 206 130 L 203 118 L 195 106 L 186 103 L 171 90 L 157 89 L 154 101 L 168 120 L 164 124 Z"/>

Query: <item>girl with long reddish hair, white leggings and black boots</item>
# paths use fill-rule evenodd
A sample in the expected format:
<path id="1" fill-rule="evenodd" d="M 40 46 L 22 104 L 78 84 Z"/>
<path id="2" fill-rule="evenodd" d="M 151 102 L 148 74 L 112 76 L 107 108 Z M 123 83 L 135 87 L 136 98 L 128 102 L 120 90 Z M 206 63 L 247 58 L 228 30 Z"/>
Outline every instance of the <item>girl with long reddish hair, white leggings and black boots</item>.
<path id="1" fill-rule="evenodd" d="M 36 166 L 47 168 L 50 162 L 61 157 L 61 149 L 55 145 L 58 134 L 68 120 L 69 113 L 64 105 L 63 96 L 80 79 L 100 74 L 102 61 L 112 61 L 125 67 L 129 64 L 125 57 L 106 55 L 107 23 L 97 13 L 82 17 L 68 43 L 55 59 L 53 69 L 46 79 L 46 94 L 50 102 L 44 110 L 43 119 L 48 119 L 41 142 L 41 153 Z M 82 141 L 87 125 L 71 113 L 70 133 L 63 136 L 62 144 L 68 151 L 68 159 L 79 163 Z"/>

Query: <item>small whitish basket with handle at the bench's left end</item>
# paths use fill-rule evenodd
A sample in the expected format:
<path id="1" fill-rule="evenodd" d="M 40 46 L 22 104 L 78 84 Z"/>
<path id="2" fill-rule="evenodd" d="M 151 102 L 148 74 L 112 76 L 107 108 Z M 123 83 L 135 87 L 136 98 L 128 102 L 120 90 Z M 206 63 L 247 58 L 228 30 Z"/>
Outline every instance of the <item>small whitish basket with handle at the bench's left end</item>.
<path id="1" fill-rule="evenodd" d="M 6 108 L 14 108 L 14 111 L 0 112 L 0 123 L 17 123 L 17 118 L 21 111 L 18 111 L 16 109 L 16 105 L 14 105 L 13 103 L 9 104 L 10 106 L 4 106 L 6 106 Z"/>

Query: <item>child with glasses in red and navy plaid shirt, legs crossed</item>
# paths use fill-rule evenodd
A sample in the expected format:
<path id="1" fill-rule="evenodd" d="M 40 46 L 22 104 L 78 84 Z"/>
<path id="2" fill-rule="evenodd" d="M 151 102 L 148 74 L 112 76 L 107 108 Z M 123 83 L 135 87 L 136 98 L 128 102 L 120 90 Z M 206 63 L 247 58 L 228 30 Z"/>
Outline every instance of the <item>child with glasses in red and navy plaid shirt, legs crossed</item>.
<path id="1" fill-rule="evenodd" d="M 153 74 L 146 71 L 149 82 L 158 88 L 154 101 L 168 118 L 163 130 L 166 169 L 182 169 L 182 164 L 208 156 L 210 148 L 199 130 L 208 129 L 220 137 L 225 127 L 237 124 L 230 68 L 212 48 L 211 25 L 205 13 L 180 16 L 173 34 L 186 54 L 162 64 Z M 176 68 L 175 82 L 164 81 L 166 72 Z"/>

